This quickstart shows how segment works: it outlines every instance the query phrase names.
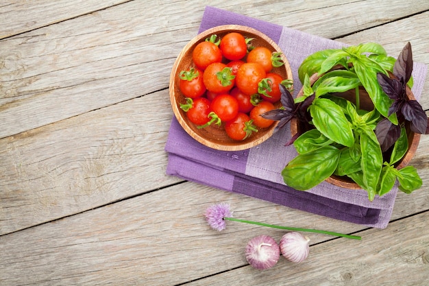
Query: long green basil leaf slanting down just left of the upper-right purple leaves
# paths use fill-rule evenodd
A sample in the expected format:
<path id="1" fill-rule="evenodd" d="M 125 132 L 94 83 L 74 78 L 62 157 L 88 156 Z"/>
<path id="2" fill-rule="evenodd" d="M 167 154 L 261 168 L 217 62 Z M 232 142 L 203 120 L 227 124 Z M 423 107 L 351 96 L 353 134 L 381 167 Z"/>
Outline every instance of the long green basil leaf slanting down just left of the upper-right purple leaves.
<path id="1" fill-rule="evenodd" d="M 392 99 L 382 91 L 377 80 L 377 73 L 385 73 L 384 69 L 380 64 L 367 57 L 353 58 L 351 61 L 356 75 L 358 75 L 360 82 L 362 82 L 363 87 L 371 97 L 374 106 L 384 117 L 389 117 L 389 107 L 392 104 Z M 397 124 L 396 114 L 391 115 L 389 120 Z"/>

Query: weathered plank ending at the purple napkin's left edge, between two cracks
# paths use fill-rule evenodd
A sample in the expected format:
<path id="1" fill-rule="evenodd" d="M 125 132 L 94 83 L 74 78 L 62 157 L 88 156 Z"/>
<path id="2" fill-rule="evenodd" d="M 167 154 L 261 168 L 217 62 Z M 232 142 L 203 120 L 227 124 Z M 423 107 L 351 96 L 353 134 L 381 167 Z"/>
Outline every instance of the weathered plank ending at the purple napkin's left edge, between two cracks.
<path id="1" fill-rule="evenodd" d="M 0 234 L 178 182 L 165 174 L 167 94 L 0 139 Z"/>

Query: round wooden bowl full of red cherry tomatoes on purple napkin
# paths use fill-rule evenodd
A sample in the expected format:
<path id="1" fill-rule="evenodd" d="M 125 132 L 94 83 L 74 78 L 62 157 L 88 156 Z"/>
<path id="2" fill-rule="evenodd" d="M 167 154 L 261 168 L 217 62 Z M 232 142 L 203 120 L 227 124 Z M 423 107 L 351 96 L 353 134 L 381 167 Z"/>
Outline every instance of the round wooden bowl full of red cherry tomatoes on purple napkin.
<path id="1" fill-rule="evenodd" d="M 280 108 L 278 85 L 285 82 L 291 86 L 291 67 L 271 38 L 251 27 L 217 26 L 193 38 L 175 60 L 171 107 L 199 143 L 245 150 L 273 134 L 278 121 L 260 114 Z"/>

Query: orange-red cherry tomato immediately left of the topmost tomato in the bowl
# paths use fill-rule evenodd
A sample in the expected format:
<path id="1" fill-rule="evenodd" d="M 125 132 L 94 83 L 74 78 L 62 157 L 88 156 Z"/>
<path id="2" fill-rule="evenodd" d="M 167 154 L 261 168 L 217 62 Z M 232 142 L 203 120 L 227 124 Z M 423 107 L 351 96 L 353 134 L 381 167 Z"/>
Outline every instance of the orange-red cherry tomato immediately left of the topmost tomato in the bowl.
<path id="1" fill-rule="evenodd" d="M 199 69 L 204 71 L 212 62 L 222 61 L 222 52 L 214 43 L 204 41 L 193 50 L 192 60 Z"/>

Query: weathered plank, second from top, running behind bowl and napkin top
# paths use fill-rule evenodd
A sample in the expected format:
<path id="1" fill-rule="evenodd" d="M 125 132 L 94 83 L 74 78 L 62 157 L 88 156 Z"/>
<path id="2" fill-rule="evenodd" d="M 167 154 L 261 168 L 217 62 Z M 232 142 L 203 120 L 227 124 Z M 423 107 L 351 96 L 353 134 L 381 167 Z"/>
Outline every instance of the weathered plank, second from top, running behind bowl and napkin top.
<path id="1" fill-rule="evenodd" d="M 383 10 L 389 18 L 381 23 L 428 9 L 426 1 L 412 2 L 391 1 L 389 13 Z M 329 38 L 346 33 L 339 28 L 351 33 L 356 23 L 366 28 L 380 19 L 376 1 L 288 2 L 281 4 L 284 10 L 275 1 L 266 4 L 219 8 Z M 131 1 L 1 41 L 0 138 L 166 88 L 174 58 L 195 36 L 204 5 Z M 177 13 L 179 6 L 183 12 Z M 353 21 L 332 25 L 323 20 L 332 19 L 327 13 Z M 426 29 L 416 33 L 425 35 Z"/>

